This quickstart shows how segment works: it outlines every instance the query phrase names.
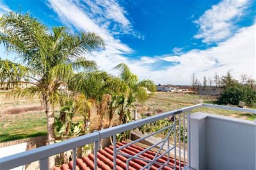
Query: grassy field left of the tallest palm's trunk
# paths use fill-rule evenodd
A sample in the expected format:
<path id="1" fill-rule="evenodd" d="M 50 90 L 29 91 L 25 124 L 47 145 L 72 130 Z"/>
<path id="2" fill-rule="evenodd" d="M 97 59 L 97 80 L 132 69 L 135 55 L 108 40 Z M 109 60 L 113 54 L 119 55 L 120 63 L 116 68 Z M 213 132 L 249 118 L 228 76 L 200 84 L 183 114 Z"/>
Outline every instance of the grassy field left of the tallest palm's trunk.
<path id="1" fill-rule="evenodd" d="M 0 143 L 47 134 L 46 116 L 38 98 L 12 98 L 0 93 Z"/>

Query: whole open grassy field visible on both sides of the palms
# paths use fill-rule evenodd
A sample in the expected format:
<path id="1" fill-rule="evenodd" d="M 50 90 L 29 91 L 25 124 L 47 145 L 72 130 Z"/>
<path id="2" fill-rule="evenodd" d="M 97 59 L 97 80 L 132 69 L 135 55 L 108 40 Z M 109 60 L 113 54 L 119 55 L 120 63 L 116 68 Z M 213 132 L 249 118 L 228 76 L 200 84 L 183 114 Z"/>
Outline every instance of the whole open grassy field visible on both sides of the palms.
<path id="1" fill-rule="evenodd" d="M 193 104 L 214 104 L 214 102 L 216 102 L 216 98 L 210 96 L 163 92 L 155 93 L 145 103 L 136 102 L 135 106 L 139 113 L 150 111 L 159 114 Z M 6 98 L 3 93 L 0 93 L 0 107 L 0 143 L 47 134 L 46 116 L 38 98 L 32 100 L 29 98 Z M 255 116 L 245 112 L 208 108 L 196 109 L 193 112 L 197 111 L 245 120 L 255 119 Z"/>

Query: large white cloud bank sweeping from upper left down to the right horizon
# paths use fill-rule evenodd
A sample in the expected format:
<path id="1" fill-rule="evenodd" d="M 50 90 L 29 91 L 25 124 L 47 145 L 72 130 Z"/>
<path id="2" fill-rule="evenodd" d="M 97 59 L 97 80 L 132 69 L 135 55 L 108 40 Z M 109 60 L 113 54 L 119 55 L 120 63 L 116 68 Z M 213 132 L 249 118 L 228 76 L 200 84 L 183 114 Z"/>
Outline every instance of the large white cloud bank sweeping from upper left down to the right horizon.
<path id="1" fill-rule="evenodd" d="M 140 79 L 150 78 L 156 84 L 166 84 L 167 82 L 190 84 L 190 77 L 193 73 L 196 73 L 198 79 L 203 79 L 204 76 L 213 77 L 215 72 L 224 75 L 228 70 L 237 79 L 242 73 L 256 78 L 255 25 L 239 29 L 235 35 L 230 35 L 230 38 L 218 43 L 217 47 L 206 50 L 194 49 L 182 53 L 182 49 L 175 48 L 173 49 L 173 55 L 141 56 L 132 59 L 125 57 L 125 54 L 131 54 L 133 50 L 116 39 L 106 24 L 99 24 L 99 22 L 102 23 L 100 21 L 102 18 L 99 17 L 97 21 L 84 12 L 79 2 L 52 0 L 49 2 L 52 9 L 58 13 L 63 24 L 71 24 L 83 31 L 94 31 L 104 38 L 106 50 L 93 52 L 92 56 L 87 56 L 87 58 L 95 60 L 102 70 L 116 74 L 112 68 L 124 62 Z M 97 7 L 99 6 L 96 6 L 93 10 L 102 10 L 102 8 L 97 9 Z M 122 17 L 118 20 L 119 24 L 126 23 Z M 161 66 L 163 62 L 165 68 Z M 169 66 L 168 62 L 170 63 Z"/>

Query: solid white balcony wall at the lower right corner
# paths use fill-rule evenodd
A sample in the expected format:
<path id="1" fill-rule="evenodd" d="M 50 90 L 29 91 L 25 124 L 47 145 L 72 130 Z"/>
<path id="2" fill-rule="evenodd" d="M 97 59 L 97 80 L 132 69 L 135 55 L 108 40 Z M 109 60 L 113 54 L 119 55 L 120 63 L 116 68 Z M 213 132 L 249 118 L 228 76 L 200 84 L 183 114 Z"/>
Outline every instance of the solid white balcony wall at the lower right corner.
<path id="1" fill-rule="evenodd" d="M 191 114 L 191 167 L 255 170 L 256 123 L 203 112 Z"/>

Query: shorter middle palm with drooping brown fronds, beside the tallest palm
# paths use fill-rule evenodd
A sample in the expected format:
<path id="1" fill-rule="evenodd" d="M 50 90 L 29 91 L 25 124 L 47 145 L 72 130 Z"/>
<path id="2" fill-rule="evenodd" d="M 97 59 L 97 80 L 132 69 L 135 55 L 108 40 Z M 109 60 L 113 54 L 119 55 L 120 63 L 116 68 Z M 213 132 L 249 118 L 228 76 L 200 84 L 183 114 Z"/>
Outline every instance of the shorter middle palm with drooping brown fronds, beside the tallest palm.
<path id="1" fill-rule="evenodd" d="M 77 73 L 70 82 L 72 91 L 78 93 L 75 97 L 76 112 L 83 115 L 84 125 L 88 124 L 93 111 L 100 116 L 100 129 L 103 128 L 102 120 L 106 114 L 109 114 L 110 125 L 116 110 L 113 108 L 115 94 L 124 92 L 127 85 L 118 77 L 102 71 Z"/>

